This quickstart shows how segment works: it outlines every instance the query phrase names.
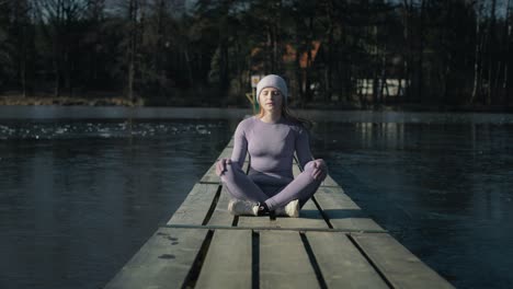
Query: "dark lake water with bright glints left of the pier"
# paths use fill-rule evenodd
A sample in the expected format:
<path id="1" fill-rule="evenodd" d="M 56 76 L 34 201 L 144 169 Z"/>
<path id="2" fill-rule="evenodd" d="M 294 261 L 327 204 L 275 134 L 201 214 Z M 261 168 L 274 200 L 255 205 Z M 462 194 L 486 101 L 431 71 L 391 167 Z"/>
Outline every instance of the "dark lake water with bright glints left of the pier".
<path id="1" fill-rule="evenodd" d="M 231 137 L 226 120 L 3 122 L 0 288 L 100 288 Z"/>

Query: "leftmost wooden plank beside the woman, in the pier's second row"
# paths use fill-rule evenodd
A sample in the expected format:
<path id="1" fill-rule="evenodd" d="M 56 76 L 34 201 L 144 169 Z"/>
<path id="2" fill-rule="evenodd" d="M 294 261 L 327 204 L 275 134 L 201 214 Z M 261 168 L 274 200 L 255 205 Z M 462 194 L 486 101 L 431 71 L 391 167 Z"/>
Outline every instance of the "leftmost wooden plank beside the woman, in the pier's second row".
<path id="1" fill-rule="evenodd" d="M 215 184 L 196 184 L 168 224 L 202 224 L 218 188 Z"/>

